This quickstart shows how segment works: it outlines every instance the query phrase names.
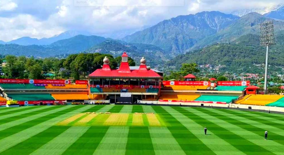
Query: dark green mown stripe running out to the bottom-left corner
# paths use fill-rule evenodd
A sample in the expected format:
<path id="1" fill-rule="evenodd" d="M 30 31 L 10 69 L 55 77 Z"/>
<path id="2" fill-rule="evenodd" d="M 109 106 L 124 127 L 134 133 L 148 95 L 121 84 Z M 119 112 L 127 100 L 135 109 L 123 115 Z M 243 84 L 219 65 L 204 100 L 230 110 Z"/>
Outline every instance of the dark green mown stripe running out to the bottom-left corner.
<path id="1" fill-rule="evenodd" d="M 0 154 L 21 154 L 21 155 L 28 155 L 32 153 L 34 150 L 40 148 L 41 146 L 45 145 L 47 142 L 52 140 L 53 138 L 59 136 L 61 133 L 65 132 L 70 126 L 52 126 L 43 132 L 32 136 L 31 138 L 24 140 L 17 144 L 16 147 L 11 147 Z M 50 149 L 49 149 L 50 150 Z M 55 150 L 53 150 L 55 151 Z"/>

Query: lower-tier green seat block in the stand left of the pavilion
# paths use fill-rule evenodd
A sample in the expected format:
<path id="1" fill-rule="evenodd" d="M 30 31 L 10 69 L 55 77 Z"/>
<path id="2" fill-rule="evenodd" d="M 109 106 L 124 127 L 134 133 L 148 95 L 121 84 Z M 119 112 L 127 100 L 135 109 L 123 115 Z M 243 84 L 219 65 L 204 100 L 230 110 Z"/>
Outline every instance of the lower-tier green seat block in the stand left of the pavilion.
<path id="1" fill-rule="evenodd" d="M 9 98 L 17 101 L 44 101 L 54 100 L 51 94 L 7 94 Z"/>

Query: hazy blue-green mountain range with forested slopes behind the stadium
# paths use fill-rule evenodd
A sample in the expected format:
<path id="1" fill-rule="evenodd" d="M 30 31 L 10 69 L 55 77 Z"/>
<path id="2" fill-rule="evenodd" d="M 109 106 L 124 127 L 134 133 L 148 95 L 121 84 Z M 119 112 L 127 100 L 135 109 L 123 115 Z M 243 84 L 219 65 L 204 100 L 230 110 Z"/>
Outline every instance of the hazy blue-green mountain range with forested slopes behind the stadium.
<path id="1" fill-rule="evenodd" d="M 69 31 L 45 38 L 45 41 L 44 38 L 27 37 L 5 44 L 1 44 L 3 42 L 0 41 L 0 53 L 2 55 L 50 57 L 78 52 L 100 52 L 118 56 L 122 51 L 127 51 L 137 63 L 142 55 L 146 56 L 153 67 L 180 66 L 182 62 L 246 66 L 263 61 L 263 57 L 260 56 L 263 53 L 259 52 L 263 52 L 264 49 L 259 46 L 260 22 L 273 21 L 275 36 L 277 36 L 276 42 L 284 42 L 281 37 L 284 35 L 283 15 L 284 6 L 277 7 L 263 15 L 252 12 L 242 17 L 219 11 L 203 11 L 194 15 L 180 15 L 161 21 L 127 35 L 121 40 L 87 33 L 78 35 L 81 32 Z M 283 44 L 273 46 L 273 49 L 277 51 L 274 53 L 277 61 L 274 62 L 276 65 L 284 66 L 282 64 L 284 55 L 277 57 L 281 55 L 281 52 L 284 53 L 280 45 Z M 261 54 L 258 55 L 258 53 Z M 212 58 L 212 55 L 215 57 Z M 167 63 L 166 61 L 170 59 L 172 61 Z"/>

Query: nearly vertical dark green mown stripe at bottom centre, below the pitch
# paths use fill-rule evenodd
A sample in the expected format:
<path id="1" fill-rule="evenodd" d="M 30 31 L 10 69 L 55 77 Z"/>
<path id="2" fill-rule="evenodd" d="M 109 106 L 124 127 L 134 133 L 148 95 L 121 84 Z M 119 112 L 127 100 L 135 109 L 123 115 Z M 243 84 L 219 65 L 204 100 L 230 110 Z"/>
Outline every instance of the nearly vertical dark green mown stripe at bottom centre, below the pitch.
<path id="1" fill-rule="evenodd" d="M 148 127 L 129 127 L 125 154 L 155 154 Z"/>

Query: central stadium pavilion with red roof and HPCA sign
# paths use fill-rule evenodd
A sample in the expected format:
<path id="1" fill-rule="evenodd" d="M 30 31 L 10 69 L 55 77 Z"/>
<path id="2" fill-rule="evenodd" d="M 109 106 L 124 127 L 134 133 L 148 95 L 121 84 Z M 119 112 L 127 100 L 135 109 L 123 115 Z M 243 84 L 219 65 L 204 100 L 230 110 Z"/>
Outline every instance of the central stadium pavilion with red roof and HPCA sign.
<path id="1" fill-rule="evenodd" d="M 93 99 L 110 100 L 110 103 L 135 103 L 137 100 L 157 100 L 163 77 L 161 72 L 146 66 L 142 57 L 139 68 L 131 68 L 128 55 L 122 54 L 118 69 L 111 69 L 109 59 L 104 58 L 102 69 L 89 75 L 90 96 Z"/>

